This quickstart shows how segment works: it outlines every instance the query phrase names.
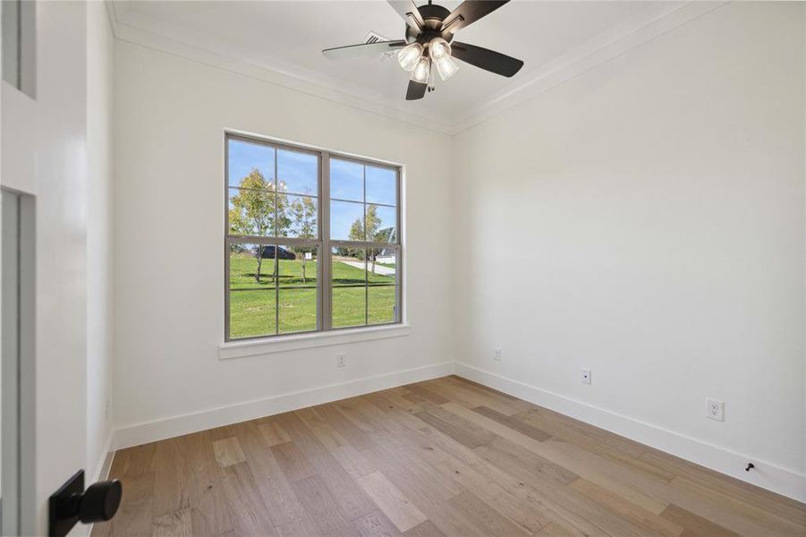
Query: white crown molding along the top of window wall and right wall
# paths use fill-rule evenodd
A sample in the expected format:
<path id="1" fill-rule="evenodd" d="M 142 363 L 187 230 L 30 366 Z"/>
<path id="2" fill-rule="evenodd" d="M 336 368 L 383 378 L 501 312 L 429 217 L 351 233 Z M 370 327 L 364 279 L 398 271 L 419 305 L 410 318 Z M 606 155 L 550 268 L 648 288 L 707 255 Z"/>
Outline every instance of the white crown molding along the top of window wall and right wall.
<path id="1" fill-rule="evenodd" d="M 258 55 L 252 50 L 202 36 L 173 23 L 144 17 L 133 12 L 128 2 L 106 0 L 115 38 L 122 41 L 448 135 L 462 132 L 537 97 L 728 3 L 729 0 L 650 4 L 627 20 L 588 39 L 580 47 L 522 73 L 504 90 L 471 107 L 467 114 L 451 117 L 438 113 L 412 113 L 400 98 Z"/>

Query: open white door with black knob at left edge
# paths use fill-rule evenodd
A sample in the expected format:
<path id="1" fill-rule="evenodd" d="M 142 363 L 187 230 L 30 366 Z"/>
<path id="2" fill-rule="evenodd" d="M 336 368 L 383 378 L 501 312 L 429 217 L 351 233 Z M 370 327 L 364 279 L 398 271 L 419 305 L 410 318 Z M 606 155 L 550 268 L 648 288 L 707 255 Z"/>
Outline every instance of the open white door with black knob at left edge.
<path id="1" fill-rule="evenodd" d="M 14 17 L 22 28 L 12 45 L 21 48 L 17 54 L 3 54 L 4 75 L 11 77 L 0 82 L 0 186 L 36 200 L 30 241 L 36 268 L 21 272 L 36 289 L 30 330 L 33 381 L 20 389 L 21 396 L 32 400 L 20 405 L 18 413 L 21 429 L 33 429 L 34 443 L 19 449 L 21 456 L 30 456 L 31 464 L 18 461 L 23 465 L 16 521 L 6 509 L 13 499 L 5 496 L 2 476 L 2 530 L 7 518 L 9 524 L 19 524 L 19 533 L 45 535 L 50 495 L 88 468 L 88 10 L 84 2 L 4 0 L 0 7 L 13 4 L 31 16 Z M 3 53 L 9 39 L 5 29 L 4 24 Z M 21 64 L 6 68 L 14 57 Z M 8 399 L 2 398 L 5 404 Z M 3 442 L 0 450 L 5 446 Z M 0 470 L 5 469 L 2 465 Z M 24 496 L 26 490 L 29 497 Z M 71 534 L 87 530 L 80 524 Z"/>

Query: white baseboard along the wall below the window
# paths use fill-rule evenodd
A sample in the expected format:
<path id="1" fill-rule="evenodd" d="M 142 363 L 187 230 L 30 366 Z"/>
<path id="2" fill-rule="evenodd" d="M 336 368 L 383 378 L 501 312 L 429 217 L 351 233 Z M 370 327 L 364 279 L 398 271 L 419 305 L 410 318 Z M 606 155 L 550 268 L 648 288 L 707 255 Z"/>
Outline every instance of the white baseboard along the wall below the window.
<path id="1" fill-rule="evenodd" d="M 170 439 L 199 430 L 254 420 L 276 413 L 290 412 L 306 406 L 322 405 L 345 397 L 360 396 L 373 391 L 394 388 L 420 380 L 436 379 L 454 373 L 454 362 L 442 362 L 410 370 L 395 371 L 366 379 L 350 380 L 318 388 L 271 396 L 237 405 L 211 408 L 198 413 L 183 414 L 156 422 L 145 422 L 115 430 L 114 447 L 139 446 L 148 442 Z"/>

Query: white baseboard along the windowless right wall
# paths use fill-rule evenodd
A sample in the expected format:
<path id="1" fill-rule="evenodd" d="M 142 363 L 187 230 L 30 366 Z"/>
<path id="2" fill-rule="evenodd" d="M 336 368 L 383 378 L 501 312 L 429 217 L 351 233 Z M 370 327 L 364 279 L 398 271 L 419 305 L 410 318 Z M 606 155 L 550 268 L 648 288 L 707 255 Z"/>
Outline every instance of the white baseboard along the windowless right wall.
<path id="1" fill-rule="evenodd" d="M 610 412 L 604 408 L 588 405 L 545 389 L 530 386 L 519 380 L 507 379 L 465 363 L 456 362 L 455 368 L 456 374 L 465 379 L 479 382 L 479 384 L 519 397 L 535 405 L 545 406 L 581 422 L 615 432 L 649 447 L 655 447 L 692 463 L 725 473 L 743 482 L 749 482 L 789 498 L 806 502 L 806 475 L 803 473 L 692 439 L 681 433 Z M 745 472 L 744 466 L 749 461 L 752 461 L 755 468 L 751 472 Z"/>

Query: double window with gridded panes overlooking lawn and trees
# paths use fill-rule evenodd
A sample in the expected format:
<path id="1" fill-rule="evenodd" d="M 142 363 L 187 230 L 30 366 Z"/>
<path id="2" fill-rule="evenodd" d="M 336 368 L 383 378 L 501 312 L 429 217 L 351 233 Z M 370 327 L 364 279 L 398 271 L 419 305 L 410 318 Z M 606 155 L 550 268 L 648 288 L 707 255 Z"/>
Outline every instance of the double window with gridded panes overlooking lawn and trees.
<path id="1" fill-rule="evenodd" d="M 400 322 L 400 168 L 225 144 L 226 340 Z"/>

